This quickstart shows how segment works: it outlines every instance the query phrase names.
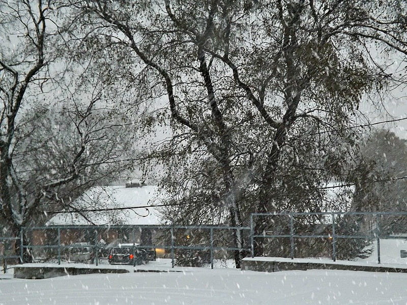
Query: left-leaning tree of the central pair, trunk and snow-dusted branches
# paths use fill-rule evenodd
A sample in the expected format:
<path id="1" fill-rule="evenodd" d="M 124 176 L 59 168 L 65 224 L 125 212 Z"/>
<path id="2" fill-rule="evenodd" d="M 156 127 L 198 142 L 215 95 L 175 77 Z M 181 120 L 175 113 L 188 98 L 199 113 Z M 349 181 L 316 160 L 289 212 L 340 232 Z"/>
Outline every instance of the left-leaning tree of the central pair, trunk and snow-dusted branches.
<path id="1" fill-rule="evenodd" d="M 232 121 L 227 122 L 220 110 L 220 104 L 230 104 L 232 98 L 230 95 L 216 96 L 212 72 L 210 71 L 211 63 L 205 58 L 203 52 L 203 45 L 211 33 L 211 20 L 208 20 L 202 31 L 196 33 L 195 38 L 200 41 L 201 46 L 197 50 L 186 49 L 181 55 L 177 53 L 176 45 L 183 41 L 184 35 L 182 33 L 177 35 L 169 25 L 162 32 L 162 35 L 166 36 L 165 40 L 168 39 L 168 43 L 157 44 L 160 33 L 154 34 L 152 29 L 144 31 L 141 23 L 138 24 L 137 21 L 131 19 L 129 13 L 132 10 L 141 12 L 145 5 L 144 3 L 119 5 L 118 3 L 109 4 L 99 1 L 74 4 L 81 9 L 80 14 L 85 23 L 88 21 L 86 18 L 97 18 L 94 20 L 97 20 L 98 24 L 109 26 L 93 27 L 92 33 L 99 35 L 99 40 L 96 38 L 96 41 L 100 43 L 108 40 L 107 46 L 113 45 L 116 48 L 131 50 L 133 52 L 131 56 L 136 57 L 137 62 L 141 60 L 146 69 L 138 77 L 146 79 L 148 75 L 151 80 L 150 84 L 153 83 L 150 88 L 147 88 L 148 92 L 156 89 L 156 87 L 164 90 L 168 99 L 167 107 L 172 119 L 177 123 L 176 133 L 181 133 L 178 139 L 192 137 L 195 143 L 198 143 L 197 146 L 206 148 L 206 153 L 201 155 L 202 158 L 205 159 L 205 155 L 209 155 L 216 160 L 220 168 L 219 174 L 222 176 L 223 189 L 222 194 L 220 194 L 222 208 L 228 210 L 230 224 L 240 227 L 242 220 L 235 198 L 236 177 L 231 160 L 231 151 L 235 149 L 234 144 L 232 144 L 231 126 L 229 125 Z M 154 13 L 149 10 L 150 8 L 143 12 L 149 15 Z M 171 33 L 175 35 L 171 35 Z M 136 40 L 139 39 L 145 42 L 142 46 L 136 43 Z M 195 64 L 196 58 L 198 58 L 198 65 Z M 144 84 L 144 86 L 149 86 L 149 84 Z M 191 90 L 191 87 L 194 89 Z M 223 91 L 226 92 L 227 90 Z M 185 133 L 185 137 L 182 136 L 183 133 Z M 196 151 L 198 147 L 195 143 L 192 145 Z M 242 249 L 243 240 L 239 232 L 235 234 L 234 240 L 235 246 Z M 242 255 L 241 251 L 236 252 L 238 265 Z"/>

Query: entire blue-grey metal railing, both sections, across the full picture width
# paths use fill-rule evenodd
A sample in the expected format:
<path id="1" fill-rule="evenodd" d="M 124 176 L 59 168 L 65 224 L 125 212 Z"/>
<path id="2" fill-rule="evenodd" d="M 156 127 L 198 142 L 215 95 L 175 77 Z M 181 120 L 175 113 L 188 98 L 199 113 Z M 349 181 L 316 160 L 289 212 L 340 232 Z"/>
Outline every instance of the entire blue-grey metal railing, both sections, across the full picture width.
<path id="1" fill-rule="evenodd" d="M 258 224 L 261 224 L 260 226 Z M 266 224 L 266 225 L 264 225 Z M 249 241 L 247 248 L 234 245 L 239 232 Z M 146 237 L 147 236 L 147 237 Z M 105 238 L 107 242 L 102 243 Z M 106 263 L 115 243 L 130 243 L 133 251 L 156 249 L 171 259 L 171 265 L 201 263 L 214 267 L 214 260 L 232 258 L 237 250 L 254 257 L 258 240 L 269 248 L 266 256 L 331 257 L 333 261 L 349 254 L 350 245 L 376 242 L 377 263 L 381 263 L 381 239 L 407 239 L 407 212 L 276 212 L 250 215 L 250 227 L 228 226 L 43 226 L 24 227 L 20 237 L 0 238 L 1 242 L 20 242 L 18 258 L 31 253 L 36 261 L 70 261 L 78 247 L 90 249 L 94 263 Z M 311 241 L 314 241 L 313 243 Z M 352 244 L 352 241 L 354 243 Z M 286 251 L 284 253 L 284 251 Z M 233 253 L 233 254 L 232 254 Z M 351 254 L 349 254 L 351 255 Z M 195 261 L 195 263 L 197 263 Z M 133 260 L 133 265 L 134 265 Z"/>

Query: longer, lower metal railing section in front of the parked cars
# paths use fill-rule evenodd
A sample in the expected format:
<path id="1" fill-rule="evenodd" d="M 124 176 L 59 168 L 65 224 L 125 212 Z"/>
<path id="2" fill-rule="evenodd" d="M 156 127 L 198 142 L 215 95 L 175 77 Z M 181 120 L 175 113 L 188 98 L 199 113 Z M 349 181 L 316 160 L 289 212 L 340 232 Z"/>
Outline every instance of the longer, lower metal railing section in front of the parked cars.
<path id="1" fill-rule="evenodd" d="M 89 262 L 98 265 L 106 261 L 106 254 L 118 243 L 137 249 L 156 249 L 171 259 L 171 265 L 209 263 L 214 267 L 215 258 L 232 257 L 229 252 L 243 250 L 233 245 L 232 235 L 239 231 L 248 239 L 249 227 L 228 226 L 170 226 L 170 225 L 122 225 L 122 226 L 44 226 L 24 227 L 21 236 L 21 257 L 30 252 L 36 261 L 54 258 L 57 264 L 69 261 L 72 249 L 90 248 Z M 147 235 L 144 237 L 143 234 Z M 110 236 L 109 236 L 110 235 Z M 103 238 L 113 241 L 101 243 Z M 21 239 L 21 241 L 23 238 Z M 135 253 L 134 253 L 135 254 Z M 133 255 L 135 257 L 135 255 Z M 191 261 L 196 257 L 200 262 Z M 48 260 L 49 261 L 49 260 Z M 133 265 L 135 260 L 133 259 Z"/>

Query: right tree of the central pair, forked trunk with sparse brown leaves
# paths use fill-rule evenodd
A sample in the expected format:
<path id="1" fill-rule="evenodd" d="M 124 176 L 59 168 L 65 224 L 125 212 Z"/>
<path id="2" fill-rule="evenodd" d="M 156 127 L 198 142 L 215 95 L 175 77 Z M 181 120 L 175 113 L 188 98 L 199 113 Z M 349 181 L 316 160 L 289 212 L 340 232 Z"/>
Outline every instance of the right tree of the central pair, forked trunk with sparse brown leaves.
<path id="1" fill-rule="evenodd" d="M 276 211 L 280 206 L 273 193 L 283 181 L 278 173 L 286 168 L 284 146 L 291 136 L 307 134 L 297 128 L 299 122 L 317 121 L 323 129 L 343 134 L 362 95 L 382 89 L 391 78 L 377 55 L 407 54 L 406 7 L 393 1 L 212 4 L 217 5 L 217 21 L 212 43 L 204 50 L 229 67 L 235 83 L 273 130 L 255 210 Z M 199 18 L 190 18 L 193 10 L 183 14 L 189 9 L 185 2 L 172 5 L 181 20 L 175 20 L 166 2 L 176 25 L 197 27 Z M 259 219 L 257 227 L 264 232 L 267 221 Z"/>

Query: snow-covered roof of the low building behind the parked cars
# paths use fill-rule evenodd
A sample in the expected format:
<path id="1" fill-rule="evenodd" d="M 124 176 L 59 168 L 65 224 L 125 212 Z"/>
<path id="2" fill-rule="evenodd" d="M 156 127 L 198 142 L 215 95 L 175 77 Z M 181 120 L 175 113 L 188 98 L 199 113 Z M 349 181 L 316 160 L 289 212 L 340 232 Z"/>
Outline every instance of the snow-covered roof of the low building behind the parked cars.
<path id="1" fill-rule="evenodd" d="M 167 195 L 157 186 L 99 186 L 86 191 L 71 205 L 80 210 L 139 207 L 162 204 L 165 199 Z M 47 225 L 156 225 L 160 220 L 155 207 L 86 212 L 84 216 L 77 212 L 60 213 L 53 216 Z"/>

